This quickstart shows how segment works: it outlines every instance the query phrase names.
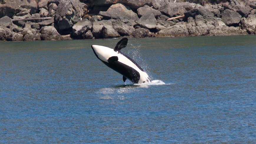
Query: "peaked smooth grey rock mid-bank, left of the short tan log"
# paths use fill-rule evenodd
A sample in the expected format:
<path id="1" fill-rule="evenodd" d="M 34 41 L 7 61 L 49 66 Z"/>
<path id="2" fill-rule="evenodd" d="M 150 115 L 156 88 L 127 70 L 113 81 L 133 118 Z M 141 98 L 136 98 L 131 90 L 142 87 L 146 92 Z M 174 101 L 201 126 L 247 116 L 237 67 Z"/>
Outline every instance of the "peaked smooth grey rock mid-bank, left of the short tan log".
<path id="1" fill-rule="evenodd" d="M 156 28 L 157 20 L 153 13 L 148 13 L 146 15 L 141 16 L 141 18 L 138 21 L 138 24 L 146 29 L 154 29 Z"/>

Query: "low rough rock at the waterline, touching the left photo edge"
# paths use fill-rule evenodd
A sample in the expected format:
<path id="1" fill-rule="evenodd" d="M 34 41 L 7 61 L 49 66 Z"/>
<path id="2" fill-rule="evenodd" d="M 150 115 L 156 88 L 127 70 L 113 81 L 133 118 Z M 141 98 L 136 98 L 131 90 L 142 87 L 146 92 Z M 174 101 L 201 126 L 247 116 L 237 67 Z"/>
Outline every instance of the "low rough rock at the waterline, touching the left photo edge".
<path id="1" fill-rule="evenodd" d="M 0 27 L 0 40 L 1 41 L 22 41 L 23 35 L 12 32 L 8 28 Z"/>

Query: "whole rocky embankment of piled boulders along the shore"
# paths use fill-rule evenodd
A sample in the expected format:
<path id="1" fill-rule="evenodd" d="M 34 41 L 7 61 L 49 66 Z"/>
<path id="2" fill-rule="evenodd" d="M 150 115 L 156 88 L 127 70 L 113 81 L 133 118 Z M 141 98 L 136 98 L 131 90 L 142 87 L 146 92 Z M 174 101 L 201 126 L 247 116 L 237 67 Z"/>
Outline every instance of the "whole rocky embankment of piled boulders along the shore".
<path id="1" fill-rule="evenodd" d="M 256 1 L 0 0 L 0 40 L 256 34 Z"/>

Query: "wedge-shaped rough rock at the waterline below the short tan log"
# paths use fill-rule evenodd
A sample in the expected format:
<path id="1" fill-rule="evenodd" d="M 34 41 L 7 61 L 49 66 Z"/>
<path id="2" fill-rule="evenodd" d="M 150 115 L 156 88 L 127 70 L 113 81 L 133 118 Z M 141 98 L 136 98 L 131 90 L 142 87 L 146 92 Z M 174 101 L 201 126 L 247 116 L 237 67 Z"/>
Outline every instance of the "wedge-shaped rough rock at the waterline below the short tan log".
<path id="1" fill-rule="evenodd" d="M 188 37 L 189 32 L 184 22 L 162 29 L 156 33 L 156 37 Z"/>

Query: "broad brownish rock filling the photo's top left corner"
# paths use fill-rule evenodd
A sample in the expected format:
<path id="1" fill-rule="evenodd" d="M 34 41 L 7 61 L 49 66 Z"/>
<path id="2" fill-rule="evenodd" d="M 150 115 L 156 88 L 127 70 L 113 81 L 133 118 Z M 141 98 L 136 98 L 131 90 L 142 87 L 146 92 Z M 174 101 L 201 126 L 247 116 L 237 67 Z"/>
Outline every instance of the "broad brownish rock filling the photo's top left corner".
<path id="1" fill-rule="evenodd" d="M 0 4 L 0 18 L 3 16 L 12 17 L 14 14 L 23 16 L 37 12 L 36 0 L 5 0 L 4 2 L 4 4 Z"/>

